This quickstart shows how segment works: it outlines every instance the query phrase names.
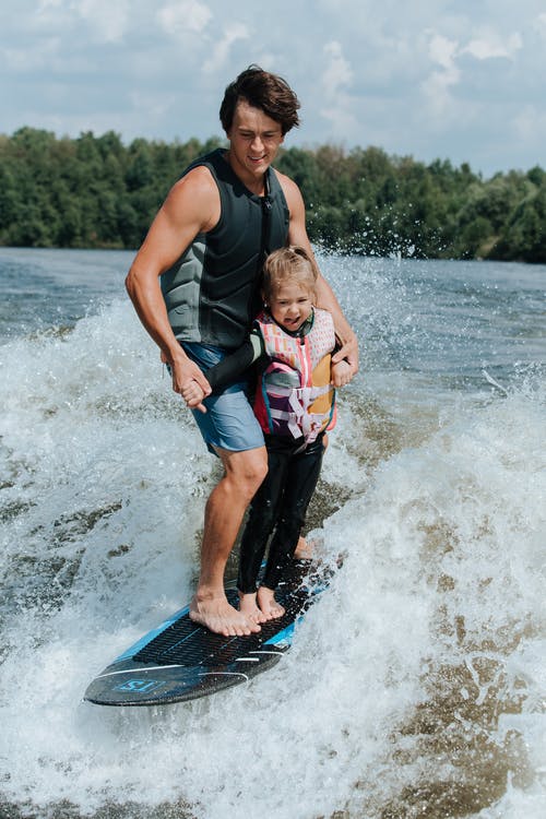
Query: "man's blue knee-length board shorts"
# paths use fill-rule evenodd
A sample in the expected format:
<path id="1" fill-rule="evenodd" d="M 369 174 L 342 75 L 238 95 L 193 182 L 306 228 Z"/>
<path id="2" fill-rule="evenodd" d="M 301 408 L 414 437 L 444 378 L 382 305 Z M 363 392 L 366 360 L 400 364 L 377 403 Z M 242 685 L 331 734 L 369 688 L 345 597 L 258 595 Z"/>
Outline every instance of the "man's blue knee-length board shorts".
<path id="1" fill-rule="evenodd" d="M 185 353 L 206 375 L 206 370 L 225 358 L 225 349 L 209 344 L 181 342 Z M 206 413 L 192 410 L 193 417 L 209 450 L 215 448 L 244 452 L 264 446 L 263 432 L 246 395 L 246 381 L 226 387 L 218 395 L 203 401 Z"/>

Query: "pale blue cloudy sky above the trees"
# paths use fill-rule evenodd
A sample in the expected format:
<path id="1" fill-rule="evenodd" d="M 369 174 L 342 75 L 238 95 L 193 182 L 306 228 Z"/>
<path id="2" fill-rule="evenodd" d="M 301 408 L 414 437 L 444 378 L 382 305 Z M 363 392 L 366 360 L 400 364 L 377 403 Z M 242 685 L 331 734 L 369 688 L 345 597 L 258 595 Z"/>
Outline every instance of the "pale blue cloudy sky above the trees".
<path id="1" fill-rule="evenodd" d="M 546 169 L 546 0 L 0 0 L 0 133 L 204 141 L 250 63 L 300 99 L 287 147 Z"/>

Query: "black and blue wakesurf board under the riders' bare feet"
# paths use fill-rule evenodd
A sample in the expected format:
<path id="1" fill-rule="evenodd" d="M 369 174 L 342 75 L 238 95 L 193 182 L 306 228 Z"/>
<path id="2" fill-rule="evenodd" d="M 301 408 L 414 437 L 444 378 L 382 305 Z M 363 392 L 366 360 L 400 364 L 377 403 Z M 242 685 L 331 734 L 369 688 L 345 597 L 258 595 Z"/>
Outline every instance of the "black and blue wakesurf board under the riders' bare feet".
<path id="1" fill-rule="evenodd" d="M 328 587 L 333 570 L 294 560 L 276 591 L 283 617 L 249 637 L 223 637 L 177 612 L 108 665 L 84 699 L 98 705 L 158 705 L 205 697 L 271 668 L 289 649 L 296 622 Z M 226 587 L 237 605 L 235 583 Z"/>

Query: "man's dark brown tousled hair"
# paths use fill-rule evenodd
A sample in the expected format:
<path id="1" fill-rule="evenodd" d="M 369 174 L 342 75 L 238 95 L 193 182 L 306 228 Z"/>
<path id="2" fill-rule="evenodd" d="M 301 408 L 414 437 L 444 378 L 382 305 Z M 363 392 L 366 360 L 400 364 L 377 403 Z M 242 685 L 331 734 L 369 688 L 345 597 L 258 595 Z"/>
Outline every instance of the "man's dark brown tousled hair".
<path id="1" fill-rule="evenodd" d="M 300 106 L 296 94 L 286 80 L 259 66 L 249 66 L 225 91 L 219 119 L 226 133 L 232 128 L 239 99 L 246 99 L 253 108 L 261 108 L 268 117 L 278 122 L 283 136 L 290 128 L 299 126 Z"/>

